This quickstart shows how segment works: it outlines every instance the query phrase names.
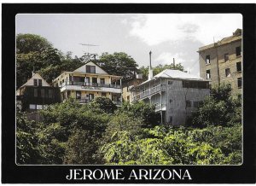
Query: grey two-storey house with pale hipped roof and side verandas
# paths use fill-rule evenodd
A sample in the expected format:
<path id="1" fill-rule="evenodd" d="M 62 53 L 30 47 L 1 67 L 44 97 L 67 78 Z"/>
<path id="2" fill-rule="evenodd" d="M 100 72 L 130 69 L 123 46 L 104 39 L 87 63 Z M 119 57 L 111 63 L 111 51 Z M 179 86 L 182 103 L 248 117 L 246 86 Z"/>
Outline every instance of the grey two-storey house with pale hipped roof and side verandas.
<path id="1" fill-rule="evenodd" d="M 151 70 L 152 71 L 152 70 Z M 138 91 L 138 94 L 135 94 Z M 132 102 L 143 101 L 155 105 L 161 114 L 161 123 L 183 125 L 210 95 L 209 82 L 189 73 L 166 69 L 137 85 L 132 93 Z"/>

